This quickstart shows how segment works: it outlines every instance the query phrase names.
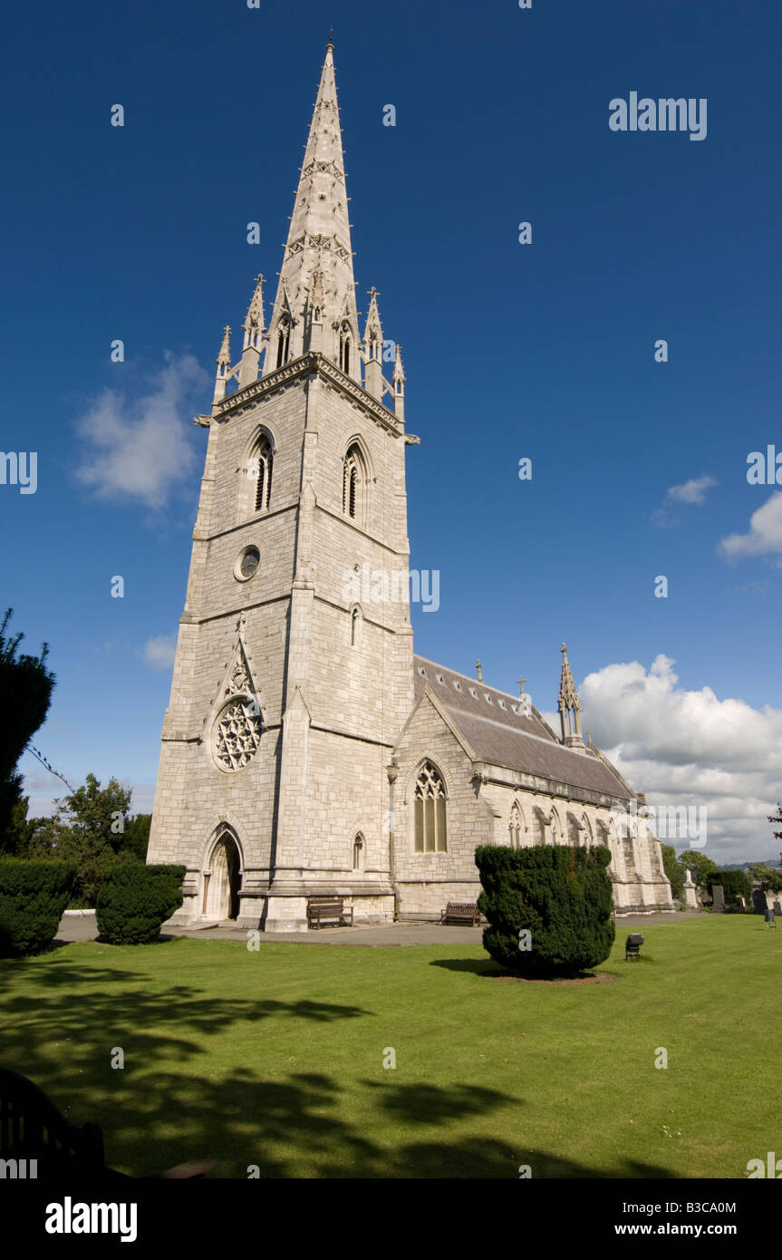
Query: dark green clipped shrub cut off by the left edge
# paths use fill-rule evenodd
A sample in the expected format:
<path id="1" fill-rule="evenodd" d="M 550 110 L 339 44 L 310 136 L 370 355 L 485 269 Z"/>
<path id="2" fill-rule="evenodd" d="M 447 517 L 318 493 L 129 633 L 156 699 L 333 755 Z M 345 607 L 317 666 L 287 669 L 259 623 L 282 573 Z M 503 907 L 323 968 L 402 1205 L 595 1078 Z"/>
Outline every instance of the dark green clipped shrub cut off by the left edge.
<path id="1" fill-rule="evenodd" d="M 0 862 L 0 956 L 37 954 L 54 937 L 76 878 L 76 862 Z"/>

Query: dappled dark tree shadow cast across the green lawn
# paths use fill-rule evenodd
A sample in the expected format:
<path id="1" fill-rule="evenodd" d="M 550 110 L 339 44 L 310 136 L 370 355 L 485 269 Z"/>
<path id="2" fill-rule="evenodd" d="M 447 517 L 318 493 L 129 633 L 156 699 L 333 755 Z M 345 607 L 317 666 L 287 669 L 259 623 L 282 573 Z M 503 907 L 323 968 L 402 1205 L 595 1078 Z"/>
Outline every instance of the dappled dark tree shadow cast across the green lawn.
<path id="1" fill-rule="evenodd" d="M 320 1070 L 262 1079 L 264 1032 L 275 1021 L 301 1022 L 316 1065 L 320 1046 L 307 1031 L 374 1014 L 360 1007 L 264 998 L 261 971 L 258 994 L 248 974 L 239 998 L 181 983 L 155 988 L 156 978 L 136 971 L 132 959 L 84 965 L 59 955 L 23 971 L 25 992 L 6 976 L 0 993 L 4 1066 L 35 1081 L 73 1123 L 99 1124 L 107 1164 L 135 1177 L 200 1158 L 217 1162 L 213 1176 L 229 1178 L 247 1178 L 256 1167 L 263 1178 L 516 1178 L 524 1163 L 533 1177 L 598 1176 L 553 1155 L 525 1157 L 533 1135 L 524 1100 L 497 1090 L 355 1081 L 350 1063 L 339 1079 Z M 199 1072 L 204 1037 L 246 1024 L 258 1036 L 251 1051 L 246 1040 L 233 1055 L 252 1062 L 229 1060 L 219 1077 Z M 111 1068 L 113 1046 L 125 1047 L 123 1071 Z M 470 1131 L 489 1114 L 504 1137 Z M 390 1124 L 380 1125 L 383 1116 Z M 627 1166 L 611 1176 L 672 1174 Z"/>

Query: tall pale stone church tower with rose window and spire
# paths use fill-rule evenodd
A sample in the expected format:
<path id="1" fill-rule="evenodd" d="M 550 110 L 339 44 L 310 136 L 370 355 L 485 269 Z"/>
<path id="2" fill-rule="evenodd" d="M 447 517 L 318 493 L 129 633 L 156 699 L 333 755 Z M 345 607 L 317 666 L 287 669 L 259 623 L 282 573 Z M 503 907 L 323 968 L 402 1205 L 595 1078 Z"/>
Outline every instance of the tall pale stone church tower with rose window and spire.
<path id="1" fill-rule="evenodd" d="M 179 922 L 306 926 L 306 897 L 393 912 L 387 765 L 413 706 L 404 373 L 359 335 L 329 43 L 268 326 L 263 277 L 218 355 L 162 728 L 150 862 Z M 235 382 L 232 392 L 229 388 Z"/>

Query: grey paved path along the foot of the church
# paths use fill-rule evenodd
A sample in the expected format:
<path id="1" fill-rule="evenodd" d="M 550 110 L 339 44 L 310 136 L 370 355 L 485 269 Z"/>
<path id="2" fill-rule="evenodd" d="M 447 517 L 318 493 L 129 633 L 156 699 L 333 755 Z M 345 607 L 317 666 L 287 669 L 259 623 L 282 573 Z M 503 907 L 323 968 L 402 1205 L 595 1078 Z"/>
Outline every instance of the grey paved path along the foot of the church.
<path id="1" fill-rule="evenodd" d="M 698 919 L 699 911 L 671 915 L 636 915 L 618 919 L 617 939 L 626 929 L 651 927 Z M 166 936 L 193 936 L 200 940 L 246 941 L 247 929 L 230 925 L 217 927 L 166 927 Z M 303 945 L 480 945 L 481 927 L 443 927 L 439 924 L 384 924 L 379 927 L 321 927 L 312 932 L 261 932 L 261 941 L 295 941 Z M 97 936 L 94 914 L 63 915 L 57 932 L 59 941 L 91 941 Z"/>

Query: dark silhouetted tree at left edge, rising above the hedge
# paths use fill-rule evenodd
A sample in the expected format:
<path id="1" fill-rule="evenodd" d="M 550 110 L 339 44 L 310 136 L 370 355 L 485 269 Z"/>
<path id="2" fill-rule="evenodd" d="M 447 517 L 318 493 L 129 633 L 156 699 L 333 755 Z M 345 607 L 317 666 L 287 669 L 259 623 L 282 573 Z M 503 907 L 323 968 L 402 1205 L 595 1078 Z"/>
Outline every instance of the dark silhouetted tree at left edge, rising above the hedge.
<path id="1" fill-rule="evenodd" d="M 13 609 L 8 609 L 0 625 L 0 850 L 5 852 L 16 843 L 9 839 L 9 829 L 14 827 L 14 806 L 23 799 L 16 762 L 47 716 L 55 683 L 47 669 L 45 643 L 39 656 L 18 655 L 24 635 L 6 634 L 11 616 Z"/>

